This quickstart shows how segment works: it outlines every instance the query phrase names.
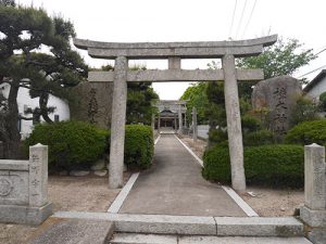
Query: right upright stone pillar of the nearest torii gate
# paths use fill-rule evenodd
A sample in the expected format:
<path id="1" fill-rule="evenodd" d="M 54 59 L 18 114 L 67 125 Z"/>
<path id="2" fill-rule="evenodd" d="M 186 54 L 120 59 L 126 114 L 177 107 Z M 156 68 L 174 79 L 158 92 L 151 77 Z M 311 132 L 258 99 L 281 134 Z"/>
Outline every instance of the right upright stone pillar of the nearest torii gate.
<path id="1" fill-rule="evenodd" d="M 230 54 L 223 56 L 222 65 L 224 73 L 224 95 L 231 166 L 231 182 L 235 190 L 244 191 L 246 176 L 243 167 L 243 143 L 235 56 Z"/>

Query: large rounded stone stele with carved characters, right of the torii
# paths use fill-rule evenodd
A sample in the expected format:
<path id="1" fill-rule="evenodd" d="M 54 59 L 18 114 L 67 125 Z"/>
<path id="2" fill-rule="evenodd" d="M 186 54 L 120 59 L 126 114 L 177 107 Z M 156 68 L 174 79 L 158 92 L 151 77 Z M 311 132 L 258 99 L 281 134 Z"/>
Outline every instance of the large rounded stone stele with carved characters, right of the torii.
<path id="1" fill-rule="evenodd" d="M 281 138 L 289 129 L 291 112 L 301 94 L 300 81 L 290 76 L 265 79 L 253 89 L 252 106 L 268 112 L 271 129 Z"/>

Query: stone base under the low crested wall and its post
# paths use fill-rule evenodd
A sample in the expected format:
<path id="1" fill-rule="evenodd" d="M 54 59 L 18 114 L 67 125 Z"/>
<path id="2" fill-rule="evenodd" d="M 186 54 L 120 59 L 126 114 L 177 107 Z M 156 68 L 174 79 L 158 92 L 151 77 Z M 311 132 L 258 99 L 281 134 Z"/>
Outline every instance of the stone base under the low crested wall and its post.
<path id="1" fill-rule="evenodd" d="M 52 203 L 42 207 L 0 205 L 0 222 L 38 226 L 52 214 Z"/>

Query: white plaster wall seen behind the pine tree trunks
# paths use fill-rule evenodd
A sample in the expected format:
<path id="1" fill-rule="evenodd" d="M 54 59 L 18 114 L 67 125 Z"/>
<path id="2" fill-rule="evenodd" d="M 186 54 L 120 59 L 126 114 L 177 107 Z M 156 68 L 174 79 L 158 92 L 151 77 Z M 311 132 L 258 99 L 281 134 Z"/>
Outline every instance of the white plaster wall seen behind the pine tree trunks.
<path id="1" fill-rule="evenodd" d="M 9 85 L 2 87 L 2 93 L 5 98 L 8 98 L 9 91 L 10 91 Z M 30 107 L 32 110 L 38 107 L 38 98 L 30 99 L 29 90 L 26 88 L 20 88 L 18 97 L 17 97 L 17 105 L 18 105 L 20 114 L 22 114 L 25 117 L 32 117 L 32 114 L 24 114 L 24 110 L 26 108 L 26 106 Z M 57 97 L 50 95 L 48 106 L 57 107 L 54 113 L 49 115 L 49 117 L 52 120 L 54 120 L 54 115 L 59 115 L 60 121 L 70 119 L 71 117 L 70 107 L 65 101 Z M 22 120 L 22 125 L 21 125 L 22 139 L 27 138 L 33 131 L 33 128 L 34 128 L 33 120 Z"/>

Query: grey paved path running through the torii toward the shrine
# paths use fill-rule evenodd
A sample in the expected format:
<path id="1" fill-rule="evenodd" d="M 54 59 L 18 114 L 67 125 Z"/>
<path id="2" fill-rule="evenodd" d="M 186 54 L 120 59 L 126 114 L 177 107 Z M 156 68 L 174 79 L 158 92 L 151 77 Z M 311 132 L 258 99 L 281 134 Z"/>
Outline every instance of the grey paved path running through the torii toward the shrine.
<path id="1" fill-rule="evenodd" d="M 174 134 L 162 134 L 151 169 L 141 172 L 120 213 L 189 216 L 246 216 Z"/>

